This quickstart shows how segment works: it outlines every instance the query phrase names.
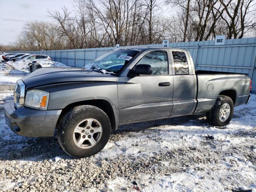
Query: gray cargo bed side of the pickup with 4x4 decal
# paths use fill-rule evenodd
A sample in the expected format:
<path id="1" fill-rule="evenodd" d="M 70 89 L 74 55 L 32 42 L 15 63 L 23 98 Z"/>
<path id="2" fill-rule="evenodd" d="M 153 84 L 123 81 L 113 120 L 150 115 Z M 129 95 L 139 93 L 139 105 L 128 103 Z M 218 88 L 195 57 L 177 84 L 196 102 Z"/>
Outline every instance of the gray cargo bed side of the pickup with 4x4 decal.
<path id="1" fill-rule="evenodd" d="M 234 106 L 246 103 L 250 94 L 248 74 L 197 70 L 197 106 L 194 114 L 211 110 L 218 95 L 230 96 Z"/>

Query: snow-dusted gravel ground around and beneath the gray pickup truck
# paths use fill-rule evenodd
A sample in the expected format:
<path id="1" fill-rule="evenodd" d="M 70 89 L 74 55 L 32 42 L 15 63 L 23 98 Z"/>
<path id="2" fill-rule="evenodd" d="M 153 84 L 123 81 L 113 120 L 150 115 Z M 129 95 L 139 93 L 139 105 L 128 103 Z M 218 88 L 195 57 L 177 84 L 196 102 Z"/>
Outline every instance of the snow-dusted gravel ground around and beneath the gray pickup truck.
<path id="1" fill-rule="evenodd" d="M 10 97 L 10 87 L 1 90 L 0 101 Z M 24 189 L 256 192 L 256 95 L 235 108 L 224 128 L 205 117 L 126 125 L 112 132 L 101 152 L 83 159 L 66 155 L 56 136 L 14 134 L 0 108 L 0 192 Z"/>

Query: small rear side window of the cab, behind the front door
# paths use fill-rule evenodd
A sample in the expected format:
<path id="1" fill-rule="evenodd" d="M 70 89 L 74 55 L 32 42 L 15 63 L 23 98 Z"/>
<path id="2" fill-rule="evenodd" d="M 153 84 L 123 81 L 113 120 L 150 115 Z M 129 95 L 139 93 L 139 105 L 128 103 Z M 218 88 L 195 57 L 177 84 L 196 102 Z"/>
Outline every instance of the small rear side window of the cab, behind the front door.
<path id="1" fill-rule="evenodd" d="M 174 68 L 176 75 L 188 75 L 188 60 L 186 54 L 182 51 L 173 51 L 172 52 L 174 60 Z"/>

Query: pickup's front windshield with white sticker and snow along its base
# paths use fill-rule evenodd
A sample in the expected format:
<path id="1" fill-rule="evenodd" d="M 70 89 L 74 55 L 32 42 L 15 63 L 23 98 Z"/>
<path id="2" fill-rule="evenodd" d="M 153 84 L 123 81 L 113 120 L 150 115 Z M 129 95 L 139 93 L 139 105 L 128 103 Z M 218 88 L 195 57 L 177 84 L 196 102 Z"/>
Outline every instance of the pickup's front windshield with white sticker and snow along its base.
<path id="1" fill-rule="evenodd" d="M 118 73 L 139 52 L 140 50 L 137 49 L 114 50 L 100 56 L 85 67 L 97 68 L 101 71 Z"/>

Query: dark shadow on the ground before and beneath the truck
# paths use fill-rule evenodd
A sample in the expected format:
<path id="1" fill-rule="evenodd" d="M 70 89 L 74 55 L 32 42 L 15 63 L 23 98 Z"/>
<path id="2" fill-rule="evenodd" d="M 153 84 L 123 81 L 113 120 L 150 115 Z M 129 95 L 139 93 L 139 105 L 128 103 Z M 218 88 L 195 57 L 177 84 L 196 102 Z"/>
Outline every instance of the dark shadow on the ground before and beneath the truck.
<path id="1" fill-rule="evenodd" d="M 58 144 L 56 133 L 54 137 L 49 138 L 28 138 L 14 134 L 3 123 L 4 114 L 0 110 L 0 160 L 22 160 L 22 161 L 42 161 L 55 160 L 56 156 L 63 159 L 73 159 L 68 156 Z M 193 119 L 198 118 L 196 116 Z M 121 126 L 120 130 L 112 131 L 112 134 L 120 132 L 133 132 L 146 130 L 148 128 L 162 125 L 180 125 L 188 122 L 191 117 L 172 118 L 164 120 L 155 120 L 152 122 L 135 123 Z M 205 120 L 199 120 L 200 126 L 206 126 Z"/>

